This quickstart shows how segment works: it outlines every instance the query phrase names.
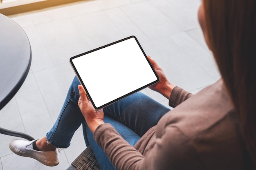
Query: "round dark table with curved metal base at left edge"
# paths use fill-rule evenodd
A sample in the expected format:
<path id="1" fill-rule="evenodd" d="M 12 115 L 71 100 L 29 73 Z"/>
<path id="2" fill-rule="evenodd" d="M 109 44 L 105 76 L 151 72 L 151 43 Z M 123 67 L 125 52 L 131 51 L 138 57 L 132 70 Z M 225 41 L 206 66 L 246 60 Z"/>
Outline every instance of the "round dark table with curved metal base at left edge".
<path id="1" fill-rule="evenodd" d="M 31 47 L 26 33 L 16 22 L 0 14 L 0 110 L 20 89 L 30 65 Z M 34 139 L 25 133 L 4 128 L 0 128 L 0 133 Z"/>

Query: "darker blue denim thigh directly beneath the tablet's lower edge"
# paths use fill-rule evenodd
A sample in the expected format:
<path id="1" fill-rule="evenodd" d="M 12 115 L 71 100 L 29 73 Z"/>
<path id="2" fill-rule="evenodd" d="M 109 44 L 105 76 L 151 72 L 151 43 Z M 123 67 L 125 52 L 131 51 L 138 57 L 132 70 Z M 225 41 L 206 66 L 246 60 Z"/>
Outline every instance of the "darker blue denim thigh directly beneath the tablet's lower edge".
<path id="1" fill-rule="evenodd" d="M 135 93 L 103 108 L 104 114 L 117 119 L 140 137 L 155 126 L 169 108 L 143 93 Z"/>

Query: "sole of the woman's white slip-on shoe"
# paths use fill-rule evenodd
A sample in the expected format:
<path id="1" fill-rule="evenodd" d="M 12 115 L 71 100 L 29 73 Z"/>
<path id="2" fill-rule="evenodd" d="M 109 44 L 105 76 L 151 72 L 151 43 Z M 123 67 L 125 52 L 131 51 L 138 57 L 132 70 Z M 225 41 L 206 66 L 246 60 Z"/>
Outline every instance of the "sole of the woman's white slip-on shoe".
<path id="1" fill-rule="evenodd" d="M 38 157 L 35 157 L 35 156 L 32 156 L 32 155 L 29 155 L 25 152 L 21 152 L 20 150 L 17 150 L 16 148 L 14 148 L 11 144 L 9 144 L 9 148 L 11 149 L 11 151 L 13 153 L 15 153 L 16 155 L 20 155 L 22 157 L 29 157 L 29 158 L 33 158 L 33 159 L 36 159 L 37 161 L 39 161 L 40 163 L 43 163 L 44 165 L 46 166 L 56 166 L 60 163 L 59 160 L 57 161 L 47 161 L 47 160 L 44 160 L 44 159 L 40 159 Z"/>

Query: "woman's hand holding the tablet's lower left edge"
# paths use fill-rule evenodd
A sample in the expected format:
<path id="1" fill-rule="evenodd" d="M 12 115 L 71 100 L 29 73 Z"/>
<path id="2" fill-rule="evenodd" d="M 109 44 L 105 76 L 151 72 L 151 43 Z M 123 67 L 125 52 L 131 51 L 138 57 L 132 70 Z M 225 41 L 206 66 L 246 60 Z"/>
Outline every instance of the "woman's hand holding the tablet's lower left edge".
<path id="1" fill-rule="evenodd" d="M 92 131 L 92 133 L 94 133 L 94 131 L 99 125 L 104 124 L 103 109 L 96 110 L 92 106 L 92 102 L 88 98 L 82 85 L 79 85 L 78 89 L 80 94 L 78 106 L 83 116 L 85 117 L 86 123 L 88 124 L 90 130 Z"/>

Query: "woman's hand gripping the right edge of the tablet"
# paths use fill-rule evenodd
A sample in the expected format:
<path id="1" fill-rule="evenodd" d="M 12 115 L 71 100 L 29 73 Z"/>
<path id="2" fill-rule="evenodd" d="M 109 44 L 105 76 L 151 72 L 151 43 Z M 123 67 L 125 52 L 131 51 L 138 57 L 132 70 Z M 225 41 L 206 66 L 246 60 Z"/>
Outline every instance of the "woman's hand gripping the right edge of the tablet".
<path id="1" fill-rule="evenodd" d="M 169 99 L 171 96 L 171 91 L 173 90 L 175 85 L 171 84 L 168 81 L 162 68 L 160 68 L 158 64 L 155 62 L 155 60 L 153 60 L 149 55 L 148 55 L 148 60 L 152 64 L 153 68 L 155 69 L 155 72 L 159 77 L 159 82 L 149 86 L 149 88 L 153 91 L 157 91 L 158 93 L 161 93 L 164 97 Z"/>

